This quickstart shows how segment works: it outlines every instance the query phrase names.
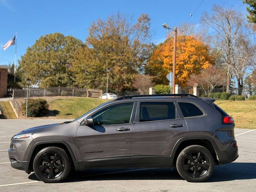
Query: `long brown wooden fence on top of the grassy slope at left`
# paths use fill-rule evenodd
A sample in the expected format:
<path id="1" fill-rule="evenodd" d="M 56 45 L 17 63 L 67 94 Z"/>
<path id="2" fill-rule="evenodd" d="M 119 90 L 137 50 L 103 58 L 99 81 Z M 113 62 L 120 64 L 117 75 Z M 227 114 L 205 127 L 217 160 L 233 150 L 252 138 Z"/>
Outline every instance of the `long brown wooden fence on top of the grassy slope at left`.
<path id="1" fill-rule="evenodd" d="M 27 89 L 13 90 L 13 98 L 26 98 Z M 65 88 L 65 87 L 52 87 L 52 88 L 28 88 L 28 97 L 54 97 L 54 96 L 74 96 L 74 97 L 95 97 L 102 96 L 102 90 L 99 89 L 78 89 L 78 88 Z"/>

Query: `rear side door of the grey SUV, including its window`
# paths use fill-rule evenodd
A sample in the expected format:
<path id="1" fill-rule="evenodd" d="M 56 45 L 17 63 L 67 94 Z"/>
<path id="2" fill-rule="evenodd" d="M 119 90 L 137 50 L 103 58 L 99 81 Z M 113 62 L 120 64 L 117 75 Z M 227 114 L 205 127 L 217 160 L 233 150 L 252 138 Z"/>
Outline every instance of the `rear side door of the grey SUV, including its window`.
<path id="1" fill-rule="evenodd" d="M 169 101 L 138 102 L 132 140 L 132 164 L 166 164 L 187 126 L 177 104 Z"/>

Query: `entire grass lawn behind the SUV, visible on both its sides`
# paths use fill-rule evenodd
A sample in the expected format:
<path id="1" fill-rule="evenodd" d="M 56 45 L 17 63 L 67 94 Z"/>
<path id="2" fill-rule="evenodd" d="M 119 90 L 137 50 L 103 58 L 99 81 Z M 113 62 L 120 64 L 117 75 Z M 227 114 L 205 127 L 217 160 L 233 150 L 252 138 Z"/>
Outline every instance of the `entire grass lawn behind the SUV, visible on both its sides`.
<path id="1" fill-rule="evenodd" d="M 49 110 L 55 113 L 55 118 L 77 118 L 98 105 L 106 102 L 106 99 L 63 97 L 48 100 Z M 215 104 L 232 116 L 236 128 L 256 129 L 256 100 L 246 101 L 216 101 Z"/>

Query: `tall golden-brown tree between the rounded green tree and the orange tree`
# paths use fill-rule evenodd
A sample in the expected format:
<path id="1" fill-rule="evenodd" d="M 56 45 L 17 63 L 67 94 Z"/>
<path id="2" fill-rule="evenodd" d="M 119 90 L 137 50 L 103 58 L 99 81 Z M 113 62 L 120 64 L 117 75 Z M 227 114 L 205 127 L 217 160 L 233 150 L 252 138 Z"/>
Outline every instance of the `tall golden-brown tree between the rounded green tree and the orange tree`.
<path id="1" fill-rule="evenodd" d="M 86 47 L 80 48 L 71 68 L 76 86 L 105 89 L 109 72 L 109 91 L 130 90 L 135 75 L 143 70 L 151 45 L 150 18 L 142 14 L 136 24 L 120 13 L 106 21 L 98 20 L 89 28 Z"/>

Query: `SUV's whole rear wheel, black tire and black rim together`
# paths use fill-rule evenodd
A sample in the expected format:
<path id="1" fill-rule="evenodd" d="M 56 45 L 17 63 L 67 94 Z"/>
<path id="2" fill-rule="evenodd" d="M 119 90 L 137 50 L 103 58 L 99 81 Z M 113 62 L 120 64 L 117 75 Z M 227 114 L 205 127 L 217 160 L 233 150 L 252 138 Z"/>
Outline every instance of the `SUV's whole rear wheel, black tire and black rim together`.
<path id="1" fill-rule="evenodd" d="M 180 152 L 176 168 L 188 182 L 204 182 L 214 170 L 214 159 L 210 151 L 200 145 L 191 145 Z"/>

